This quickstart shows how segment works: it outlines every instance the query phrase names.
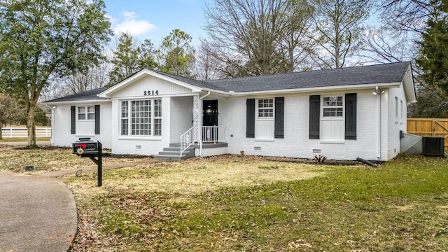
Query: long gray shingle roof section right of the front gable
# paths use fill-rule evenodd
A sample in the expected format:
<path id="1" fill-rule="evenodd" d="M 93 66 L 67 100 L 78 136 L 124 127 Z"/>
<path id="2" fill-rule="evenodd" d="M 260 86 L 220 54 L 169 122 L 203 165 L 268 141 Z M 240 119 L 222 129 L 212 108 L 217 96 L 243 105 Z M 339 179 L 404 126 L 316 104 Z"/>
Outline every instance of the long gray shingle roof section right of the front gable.
<path id="1" fill-rule="evenodd" d="M 410 62 L 354 66 L 341 69 L 324 69 L 267 76 L 250 76 L 210 80 L 210 83 L 227 91 L 256 92 L 288 90 L 341 85 L 400 83 Z"/>

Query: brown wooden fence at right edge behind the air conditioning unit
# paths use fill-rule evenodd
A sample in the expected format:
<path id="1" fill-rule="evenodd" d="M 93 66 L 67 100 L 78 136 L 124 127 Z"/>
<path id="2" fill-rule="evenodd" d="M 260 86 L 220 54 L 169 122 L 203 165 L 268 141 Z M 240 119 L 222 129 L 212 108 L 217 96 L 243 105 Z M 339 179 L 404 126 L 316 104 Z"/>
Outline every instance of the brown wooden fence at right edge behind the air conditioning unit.
<path id="1" fill-rule="evenodd" d="M 448 119 L 407 118 L 407 133 L 421 137 L 444 137 L 448 151 Z"/>

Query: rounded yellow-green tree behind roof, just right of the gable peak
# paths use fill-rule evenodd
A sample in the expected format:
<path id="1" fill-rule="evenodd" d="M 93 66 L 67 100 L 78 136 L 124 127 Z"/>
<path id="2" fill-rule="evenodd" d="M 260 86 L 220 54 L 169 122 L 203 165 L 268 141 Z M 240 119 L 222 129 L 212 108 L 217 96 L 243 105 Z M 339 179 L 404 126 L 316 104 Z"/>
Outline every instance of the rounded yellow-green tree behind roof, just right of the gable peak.
<path id="1" fill-rule="evenodd" d="M 193 77 L 195 50 L 192 37 L 185 31 L 174 29 L 163 38 L 158 50 L 159 69 L 179 76 Z"/>

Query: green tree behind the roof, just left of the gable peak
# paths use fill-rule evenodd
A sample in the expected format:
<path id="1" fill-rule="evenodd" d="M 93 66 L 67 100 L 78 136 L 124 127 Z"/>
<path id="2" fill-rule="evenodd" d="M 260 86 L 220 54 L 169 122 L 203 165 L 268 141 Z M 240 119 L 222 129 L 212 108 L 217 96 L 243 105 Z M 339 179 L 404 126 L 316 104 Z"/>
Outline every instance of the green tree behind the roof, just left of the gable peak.
<path id="1" fill-rule="evenodd" d="M 139 45 L 130 34 L 121 34 L 111 59 L 113 69 L 109 73 L 109 86 L 119 83 L 141 69 L 155 68 L 157 64 L 154 54 L 153 43 L 150 40 L 146 39 Z"/>

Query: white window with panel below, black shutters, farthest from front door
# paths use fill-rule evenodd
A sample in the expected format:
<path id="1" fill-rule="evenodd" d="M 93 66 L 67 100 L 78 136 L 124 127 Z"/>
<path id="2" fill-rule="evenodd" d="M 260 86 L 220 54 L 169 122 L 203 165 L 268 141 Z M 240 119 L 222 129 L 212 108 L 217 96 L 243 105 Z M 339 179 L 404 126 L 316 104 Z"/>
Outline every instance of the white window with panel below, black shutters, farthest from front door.
<path id="1" fill-rule="evenodd" d="M 321 105 L 321 141 L 344 142 L 344 96 L 322 97 Z"/>

